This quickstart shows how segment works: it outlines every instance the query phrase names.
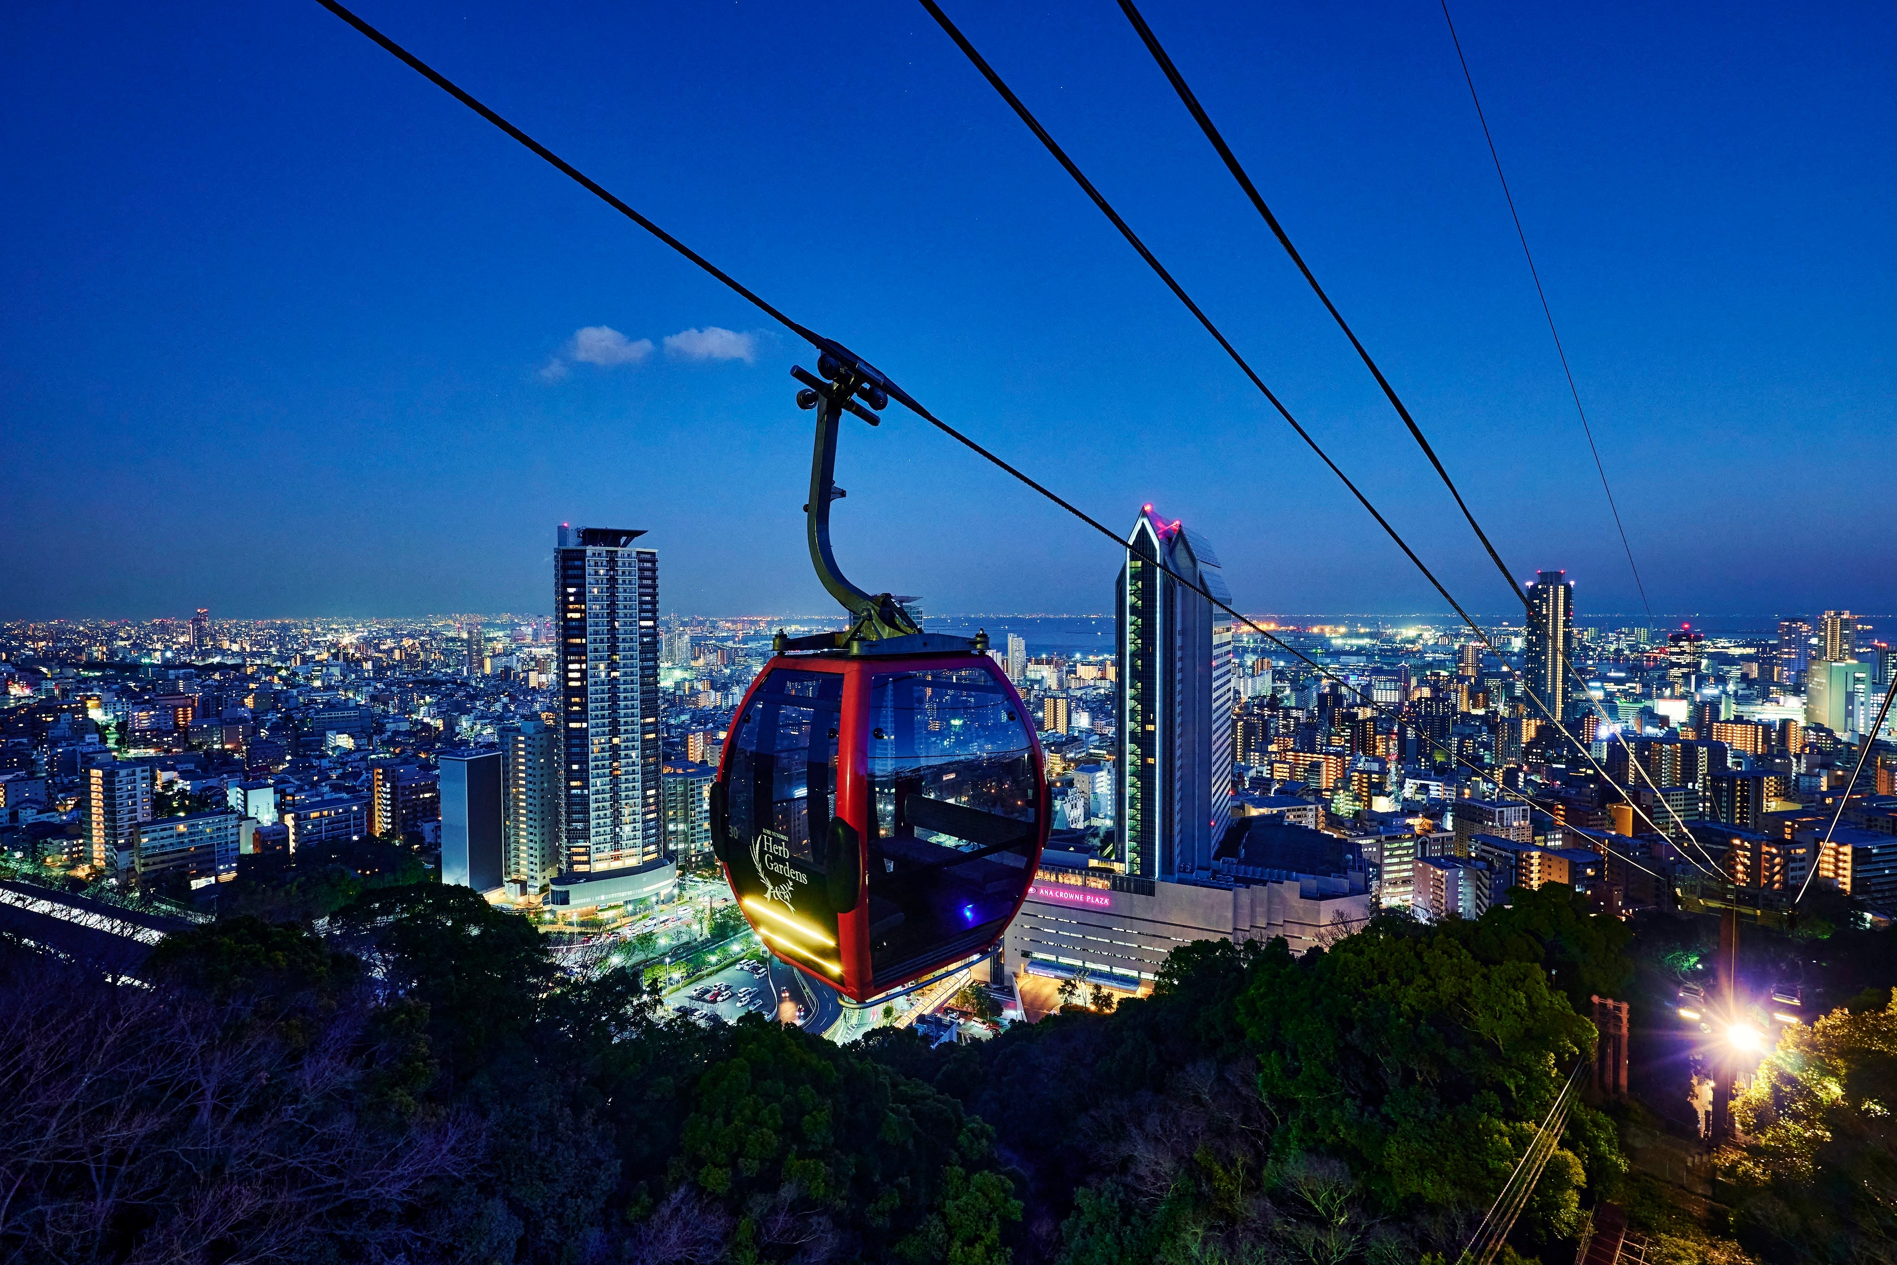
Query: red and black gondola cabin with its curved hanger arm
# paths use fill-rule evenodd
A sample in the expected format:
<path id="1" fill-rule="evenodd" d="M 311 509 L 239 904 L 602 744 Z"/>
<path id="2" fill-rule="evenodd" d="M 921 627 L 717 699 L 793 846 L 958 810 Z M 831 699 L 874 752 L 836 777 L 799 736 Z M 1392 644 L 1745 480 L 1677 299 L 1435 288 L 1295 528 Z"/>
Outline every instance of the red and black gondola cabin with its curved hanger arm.
<path id="1" fill-rule="evenodd" d="M 986 633 L 926 633 L 837 569 L 837 431 L 880 425 L 888 383 L 835 343 L 791 376 L 816 412 L 810 561 L 852 622 L 778 633 L 725 738 L 711 846 L 764 944 L 863 1003 L 1002 939 L 1047 844 L 1047 774 Z"/>

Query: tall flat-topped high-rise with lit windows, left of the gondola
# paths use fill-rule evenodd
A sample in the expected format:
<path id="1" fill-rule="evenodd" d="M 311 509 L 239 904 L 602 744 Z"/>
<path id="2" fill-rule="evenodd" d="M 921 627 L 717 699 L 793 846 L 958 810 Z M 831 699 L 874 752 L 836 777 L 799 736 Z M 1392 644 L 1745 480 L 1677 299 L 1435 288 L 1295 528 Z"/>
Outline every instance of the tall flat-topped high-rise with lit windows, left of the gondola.
<path id="1" fill-rule="evenodd" d="M 622 527 L 560 527 L 562 869 L 656 865 L 660 838 L 658 554 Z"/>

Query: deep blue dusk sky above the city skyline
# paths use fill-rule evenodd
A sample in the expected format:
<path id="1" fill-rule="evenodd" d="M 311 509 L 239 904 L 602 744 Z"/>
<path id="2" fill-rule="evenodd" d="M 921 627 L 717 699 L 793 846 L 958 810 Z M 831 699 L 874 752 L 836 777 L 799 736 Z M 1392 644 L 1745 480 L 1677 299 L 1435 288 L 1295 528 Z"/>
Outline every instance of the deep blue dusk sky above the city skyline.
<path id="1" fill-rule="evenodd" d="M 1508 611 L 1117 6 L 945 8 Z M 918 6 L 360 11 L 1077 504 L 1197 525 L 1241 609 L 1442 609 Z M 1146 15 L 1518 575 L 1637 611 L 1434 0 Z M 1897 9 L 1455 15 L 1654 609 L 1897 609 Z M 827 607 L 810 351 L 317 4 L 9 4 L 0 110 L 0 618 L 541 611 L 562 520 L 647 527 L 666 609 Z M 899 410 L 838 482 L 867 588 L 1112 609 L 1110 544 Z"/>

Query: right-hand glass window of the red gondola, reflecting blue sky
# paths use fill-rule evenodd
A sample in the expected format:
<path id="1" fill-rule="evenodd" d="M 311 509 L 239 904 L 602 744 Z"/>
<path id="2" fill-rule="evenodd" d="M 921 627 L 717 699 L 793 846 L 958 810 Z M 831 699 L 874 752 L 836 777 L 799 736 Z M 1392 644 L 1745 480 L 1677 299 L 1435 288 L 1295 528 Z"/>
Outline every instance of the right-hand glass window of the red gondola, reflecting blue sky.
<path id="1" fill-rule="evenodd" d="M 986 671 L 878 673 L 869 726 L 869 954 L 882 986 L 1000 933 L 1034 880 L 1040 802 L 1032 730 Z"/>

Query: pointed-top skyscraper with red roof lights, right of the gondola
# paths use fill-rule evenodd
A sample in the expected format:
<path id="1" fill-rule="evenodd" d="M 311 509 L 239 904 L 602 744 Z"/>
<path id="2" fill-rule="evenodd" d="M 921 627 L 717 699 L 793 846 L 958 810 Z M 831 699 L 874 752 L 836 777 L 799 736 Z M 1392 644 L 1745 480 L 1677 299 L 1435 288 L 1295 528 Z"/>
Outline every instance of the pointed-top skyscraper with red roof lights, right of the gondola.
<path id="1" fill-rule="evenodd" d="M 1182 582 L 1184 580 L 1184 582 Z M 1210 542 L 1140 510 L 1119 573 L 1119 859 L 1140 878 L 1214 869 L 1231 812 L 1231 601 Z"/>

